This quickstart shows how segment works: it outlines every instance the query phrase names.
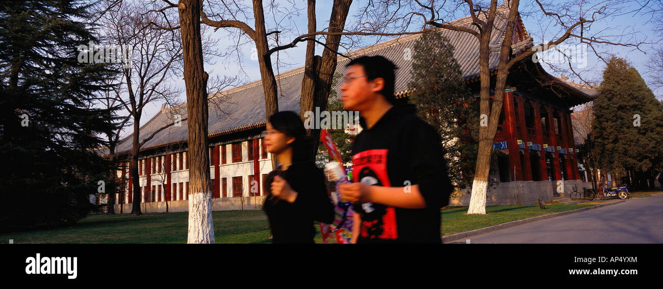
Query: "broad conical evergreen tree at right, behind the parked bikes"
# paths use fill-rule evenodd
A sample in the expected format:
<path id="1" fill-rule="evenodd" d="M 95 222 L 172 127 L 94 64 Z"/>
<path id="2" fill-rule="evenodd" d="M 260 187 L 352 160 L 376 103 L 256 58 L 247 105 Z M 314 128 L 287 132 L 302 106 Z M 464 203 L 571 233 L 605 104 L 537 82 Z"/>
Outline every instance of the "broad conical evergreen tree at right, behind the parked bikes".
<path id="1" fill-rule="evenodd" d="M 599 166 L 638 188 L 652 186 L 663 166 L 663 107 L 626 60 L 610 59 L 594 115 L 591 139 Z"/>

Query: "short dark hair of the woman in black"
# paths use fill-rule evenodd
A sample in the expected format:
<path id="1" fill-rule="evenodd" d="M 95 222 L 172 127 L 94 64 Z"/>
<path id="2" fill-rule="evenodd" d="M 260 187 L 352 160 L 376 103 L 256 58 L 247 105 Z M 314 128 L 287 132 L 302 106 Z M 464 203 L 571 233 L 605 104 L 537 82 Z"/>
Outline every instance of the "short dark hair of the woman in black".
<path id="1" fill-rule="evenodd" d="M 304 122 L 298 114 L 292 111 L 279 111 L 269 117 L 269 123 L 276 131 L 284 133 L 288 137 L 294 137 L 292 146 L 292 162 L 306 162 L 310 159 L 313 139 L 306 135 Z"/>

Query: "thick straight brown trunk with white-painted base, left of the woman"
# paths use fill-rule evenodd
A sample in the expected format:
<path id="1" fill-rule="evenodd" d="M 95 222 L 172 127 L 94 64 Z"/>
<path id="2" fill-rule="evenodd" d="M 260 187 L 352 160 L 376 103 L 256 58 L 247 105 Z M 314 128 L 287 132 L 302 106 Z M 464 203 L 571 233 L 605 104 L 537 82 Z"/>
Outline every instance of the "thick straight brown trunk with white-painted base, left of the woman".
<path id="1" fill-rule="evenodd" d="M 200 5 L 198 0 L 180 0 L 179 5 L 188 111 L 188 157 L 190 159 L 187 243 L 214 243 L 207 139 L 207 73 L 203 69 Z"/>

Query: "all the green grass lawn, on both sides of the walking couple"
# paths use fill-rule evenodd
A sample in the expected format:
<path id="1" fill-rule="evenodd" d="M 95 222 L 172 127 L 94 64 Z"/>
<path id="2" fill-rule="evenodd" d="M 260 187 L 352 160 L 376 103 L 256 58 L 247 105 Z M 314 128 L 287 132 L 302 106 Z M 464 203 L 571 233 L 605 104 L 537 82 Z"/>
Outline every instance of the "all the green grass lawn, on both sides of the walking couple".
<path id="1" fill-rule="evenodd" d="M 487 207 L 487 215 L 466 215 L 467 207 L 442 210 L 442 233 L 449 235 L 589 204 L 500 205 Z M 214 211 L 216 243 L 271 243 L 263 211 Z M 186 243 L 188 213 L 147 213 L 138 217 L 88 215 L 73 227 L 0 234 L 0 243 Z M 317 229 L 317 225 L 316 225 Z M 322 243 L 320 234 L 316 243 Z"/>

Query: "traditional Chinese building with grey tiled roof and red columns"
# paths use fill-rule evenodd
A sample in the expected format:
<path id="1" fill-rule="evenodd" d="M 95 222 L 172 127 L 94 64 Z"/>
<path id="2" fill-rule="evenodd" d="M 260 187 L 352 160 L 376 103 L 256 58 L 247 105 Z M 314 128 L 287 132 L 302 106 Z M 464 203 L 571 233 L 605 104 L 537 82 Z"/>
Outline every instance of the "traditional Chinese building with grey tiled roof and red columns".
<path id="1" fill-rule="evenodd" d="M 498 8 L 504 15 L 507 7 Z M 470 17 L 453 21 L 455 25 L 470 27 Z M 532 42 L 518 17 L 514 27 L 513 55 L 530 49 Z M 497 17 L 491 37 L 490 70 L 497 68 L 497 56 L 506 27 L 505 17 Z M 463 80 L 474 93 L 479 93 L 479 42 L 470 34 L 442 30 L 455 46 L 454 56 L 462 70 Z M 381 42 L 347 54 L 382 55 L 398 66 L 396 97 L 406 101 L 409 91 L 413 45 L 420 35 L 408 35 Z M 344 74 L 349 60 L 339 56 L 336 73 Z M 299 99 L 304 68 L 290 70 L 276 76 L 278 109 L 300 112 Z M 263 178 L 272 170 L 271 156 L 262 145 L 260 132 L 265 130 L 265 101 L 260 81 L 251 82 L 221 93 L 210 103 L 210 172 L 212 178 L 213 209 L 258 207 L 262 186 L 251 186 L 255 176 Z M 338 84 L 333 87 L 339 91 Z M 579 174 L 570 107 L 590 101 L 597 91 L 577 86 L 546 73 L 538 63 L 524 60 L 514 66 L 507 79 L 504 107 L 493 148 L 499 150 L 491 166 L 494 186 L 487 194 L 488 204 L 531 204 L 538 198 L 546 201 L 568 194 L 578 184 Z M 218 101 L 227 99 L 227 101 Z M 476 101 L 478 103 L 478 101 Z M 141 126 L 141 140 L 160 127 L 176 119 L 186 118 L 186 103 L 162 108 Z M 186 155 L 186 121 L 159 131 L 141 148 L 139 172 L 143 211 L 186 211 L 188 194 L 188 158 Z M 253 148 L 253 149 L 251 149 Z M 126 159 L 131 150 L 131 135 L 117 147 L 117 159 Z M 129 170 L 118 173 L 129 176 Z M 563 181 L 558 184 L 558 181 Z M 260 182 L 262 184 L 262 182 Z M 590 185 L 591 186 L 591 185 Z M 254 190 L 251 190 L 251 189 Z M 562 189 L 563 188 L 563 189 Z M 117 194 L 115 211 L 131 210 L 131 182 L 124 194 Z M 566 193 L 565 193 L 566 192 Z M 469 192 L 455 194 L 452 204 L 469 203 Z"/>

